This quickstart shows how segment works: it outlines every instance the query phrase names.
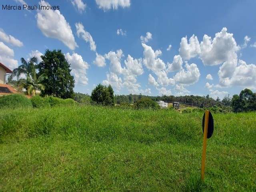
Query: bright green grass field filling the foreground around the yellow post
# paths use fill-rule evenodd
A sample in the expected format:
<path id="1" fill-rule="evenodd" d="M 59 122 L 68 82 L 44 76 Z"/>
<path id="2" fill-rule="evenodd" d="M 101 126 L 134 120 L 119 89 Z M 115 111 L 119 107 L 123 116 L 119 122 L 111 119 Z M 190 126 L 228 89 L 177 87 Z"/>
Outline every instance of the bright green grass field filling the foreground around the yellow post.
<path id="1" fill-rule="evenodd" d="M 256 113 L 97 106 L 0 111 L 0 191 L 256 191 Z"/>

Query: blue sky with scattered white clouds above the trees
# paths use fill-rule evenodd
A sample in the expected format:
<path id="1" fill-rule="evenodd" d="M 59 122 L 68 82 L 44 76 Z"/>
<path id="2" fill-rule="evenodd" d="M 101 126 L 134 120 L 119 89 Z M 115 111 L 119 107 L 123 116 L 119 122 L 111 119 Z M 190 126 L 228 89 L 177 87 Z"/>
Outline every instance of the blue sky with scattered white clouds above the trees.
<path id="1" fill-rule="evenodd" d="M 39 3 L 60 10 L 2 10 Z M 115 94 L 255 92 L 255 7 L 254 0 L 1 0 L 0 62 L 14 68 L 21 57 L 61 49 L 74 90 L 89 94 L 99 83 Z"/>

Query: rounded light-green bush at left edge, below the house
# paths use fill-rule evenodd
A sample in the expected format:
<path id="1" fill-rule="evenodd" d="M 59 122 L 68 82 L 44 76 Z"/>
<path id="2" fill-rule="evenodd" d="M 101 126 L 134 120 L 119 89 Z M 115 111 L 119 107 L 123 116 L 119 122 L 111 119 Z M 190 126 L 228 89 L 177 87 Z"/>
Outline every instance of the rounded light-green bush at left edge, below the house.
<path id="1" fill-rule="evenodd" d="M 28 98 L 22 94 L 10 94 L 0 97 L 0 108 L 32 107 Z"/>

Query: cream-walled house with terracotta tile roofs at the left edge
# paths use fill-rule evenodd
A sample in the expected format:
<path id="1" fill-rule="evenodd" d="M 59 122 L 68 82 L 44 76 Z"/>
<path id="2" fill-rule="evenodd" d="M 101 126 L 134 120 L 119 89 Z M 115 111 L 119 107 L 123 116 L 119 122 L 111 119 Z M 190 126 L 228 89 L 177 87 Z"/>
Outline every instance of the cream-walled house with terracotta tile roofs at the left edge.
<path id="1" fill-rule="evenodd" d="M 12 86 L 6 84 L 6 74 L 10 73 L 12 70 L 0 62 L 0 96 L 17 93 Z"/>

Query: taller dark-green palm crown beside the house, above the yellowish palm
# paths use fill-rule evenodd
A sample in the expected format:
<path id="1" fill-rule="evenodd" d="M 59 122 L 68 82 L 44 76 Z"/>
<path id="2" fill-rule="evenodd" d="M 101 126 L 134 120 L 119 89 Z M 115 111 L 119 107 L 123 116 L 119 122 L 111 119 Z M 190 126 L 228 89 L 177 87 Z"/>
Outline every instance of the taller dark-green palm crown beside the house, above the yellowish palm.
<path id="1" fill-rule="evenodd" d="M 24 74 L 26 77 L 29 76 L 32 73 L 32 71 L 35 70 L 38 63 L 38 59 L 36 57 L 30 58 L 28 62 L 22 57 L 20 61 L 22 64 L 12 71 L 10 79 L 12 79 L 15 76 L 19 78 L 21 74 Z"/>

